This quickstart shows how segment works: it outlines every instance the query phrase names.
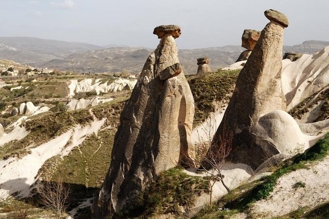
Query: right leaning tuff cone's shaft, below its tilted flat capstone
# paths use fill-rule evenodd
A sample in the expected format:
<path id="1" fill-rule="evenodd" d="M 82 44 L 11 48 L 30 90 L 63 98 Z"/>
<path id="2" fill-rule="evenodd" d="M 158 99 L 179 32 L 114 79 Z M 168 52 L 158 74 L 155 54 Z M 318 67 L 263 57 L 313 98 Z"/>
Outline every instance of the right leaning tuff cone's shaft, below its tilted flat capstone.
<path id="1" fill-rule="evenodd" d="M 285 22 L 288 23 L 287 19 Z M 269 156 L 265 151 L 272 151 L 270 156 L 277 153 L 274 145 L 267 144 L 270 148 L 266 150 L 260 146 L 262 139 L 257 138 L 257 130 L 254 132 L 253 125 L 266 113 L 277 109 L 286 110 L 280 83 L 283 32 L 284 27 L 272 21 L 262 30 L 238 76 L 235 90 L 214 136 L 215 146 L 209 149 L 207 157 L 217 150 L 216 145 L 225 133 L 233 135 L 231 156 L 235 163 L 257 168 Z M 206 161 L 203 164 L 209 167 Z"/>

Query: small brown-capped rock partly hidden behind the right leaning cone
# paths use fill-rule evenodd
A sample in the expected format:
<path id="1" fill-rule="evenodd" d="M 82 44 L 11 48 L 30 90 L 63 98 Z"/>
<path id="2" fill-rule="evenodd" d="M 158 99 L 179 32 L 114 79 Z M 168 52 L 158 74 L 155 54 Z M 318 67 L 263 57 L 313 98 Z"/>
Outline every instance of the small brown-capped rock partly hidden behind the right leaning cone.
<path id="1" fill-rule="evenodd" d="M 251 51 L 254 49 L 260 36 L 260 31 L 254 29 L 245 29 L 242 34 L 242 47 L 246 48 L 244 52 L 240 54 L 236 62 L 247 60 Z"/>

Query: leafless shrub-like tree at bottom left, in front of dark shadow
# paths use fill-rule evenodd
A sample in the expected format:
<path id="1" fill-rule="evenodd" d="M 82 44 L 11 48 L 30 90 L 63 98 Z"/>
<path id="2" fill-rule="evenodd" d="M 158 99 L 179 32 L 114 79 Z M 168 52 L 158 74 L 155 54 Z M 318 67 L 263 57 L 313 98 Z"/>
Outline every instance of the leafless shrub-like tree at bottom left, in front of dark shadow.
<path id="1" fill-rule="evenodd" d="M 40 203 L 54 210 L 56 219 L 59 219 L 68 207 L 67 200 L 71 191 L 61 178 L 57 182 L 47 180 L 39 188 Z"/>

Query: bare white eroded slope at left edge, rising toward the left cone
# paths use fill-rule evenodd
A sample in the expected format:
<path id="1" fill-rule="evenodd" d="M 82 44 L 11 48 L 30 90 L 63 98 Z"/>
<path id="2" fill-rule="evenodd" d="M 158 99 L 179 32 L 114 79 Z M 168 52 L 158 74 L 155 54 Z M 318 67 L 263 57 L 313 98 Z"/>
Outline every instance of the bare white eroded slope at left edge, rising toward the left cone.
<path id="1" fill-rule="evenodd" d="M 83 127 L 78 125 L 47 143 L 30 149 L 30 153 L 21 159 L 9 158 L 0 161 L 0 198 L 5 198 L 15 192 L 21 192 L 20 195 L 27 196 L 30 186 L 37 180 L 39 169 L 48 159 L 58 154 L 68 155 L 88 135 L 97 134 L 104 122 L 105 119 L 95 120 Z"/>

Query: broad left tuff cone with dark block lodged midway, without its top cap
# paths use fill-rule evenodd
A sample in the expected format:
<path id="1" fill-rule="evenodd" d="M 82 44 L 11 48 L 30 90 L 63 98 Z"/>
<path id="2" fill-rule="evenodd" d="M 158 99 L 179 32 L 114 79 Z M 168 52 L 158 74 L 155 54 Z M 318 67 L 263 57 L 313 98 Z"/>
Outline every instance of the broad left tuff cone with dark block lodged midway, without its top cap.
<path id="1" fill-rule="evenodd" d="M 166 32 L 161 37 L 121 113 L 110 169 L 92 207 L 93 219 L 114 216 L 130 206 L 159 173 L 177 164 L 193 165 L 192 92 L 174 36 Z"/>

